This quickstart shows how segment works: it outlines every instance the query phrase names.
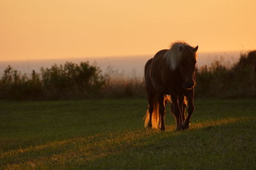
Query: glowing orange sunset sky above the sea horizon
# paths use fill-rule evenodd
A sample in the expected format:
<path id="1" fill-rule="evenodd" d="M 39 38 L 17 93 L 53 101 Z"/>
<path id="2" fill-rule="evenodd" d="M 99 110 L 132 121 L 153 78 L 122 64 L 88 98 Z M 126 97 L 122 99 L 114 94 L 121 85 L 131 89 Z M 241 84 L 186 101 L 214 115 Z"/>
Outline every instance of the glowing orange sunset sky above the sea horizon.
<path id="1" fill-rule="evenodd" d="M 0 60 L 256 49 L 256 1 L 1 0 Z"/>

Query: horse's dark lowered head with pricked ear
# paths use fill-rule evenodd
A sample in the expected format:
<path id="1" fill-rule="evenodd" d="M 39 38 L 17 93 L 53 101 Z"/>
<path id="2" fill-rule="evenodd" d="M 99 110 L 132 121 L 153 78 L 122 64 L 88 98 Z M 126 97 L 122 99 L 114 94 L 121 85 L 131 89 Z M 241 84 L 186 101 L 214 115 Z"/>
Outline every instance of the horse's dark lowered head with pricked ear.
<path id="1" fill-rule="evenodd" d="M 189 45 L 180 45 L 180 59 L 179 59 L 179 73 L 183 79 L 184 89 L 192 89 L 195 86 L 195 64 L 196 64 L 196 51 L 195 48 Z"/>

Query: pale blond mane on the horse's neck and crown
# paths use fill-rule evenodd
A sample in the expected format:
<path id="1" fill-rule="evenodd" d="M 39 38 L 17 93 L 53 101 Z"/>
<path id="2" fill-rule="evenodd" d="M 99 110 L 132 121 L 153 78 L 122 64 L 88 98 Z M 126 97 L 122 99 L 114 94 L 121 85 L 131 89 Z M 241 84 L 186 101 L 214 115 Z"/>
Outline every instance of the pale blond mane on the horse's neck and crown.
<path id="1" fill-rule="evenodd" d="M 180 46 L 184 48 L 184 46 L 190 46 L 188 43 L 184 41 L 175 41 L 170 45 L 170 50 L 168 50 L 164 57 L 166 58 L 166 62 L 169 65 L 170 69 L 175 70 L 179 66 L 180 59 Z M 190 46 L 191 47 L 191 46 Z"/>

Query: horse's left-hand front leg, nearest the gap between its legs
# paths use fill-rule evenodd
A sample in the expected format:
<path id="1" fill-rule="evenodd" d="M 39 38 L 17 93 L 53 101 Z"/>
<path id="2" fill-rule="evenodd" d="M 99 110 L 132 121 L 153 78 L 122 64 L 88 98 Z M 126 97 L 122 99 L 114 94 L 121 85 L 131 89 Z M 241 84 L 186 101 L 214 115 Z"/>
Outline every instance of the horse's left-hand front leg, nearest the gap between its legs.
<path id="1" fill-rule="evenodd" d="M 182 126 L 181 126 L 181 118 L 180 118 L 180 107 L 179 107 L 179 101 L 178 101 L 178 97 L 177 96 L 172 96 L 172 105 L 171 105 L 171 110 L 173 115 L 175 116 L 175 120 L 176 120 L 176 131 L 180 131 L 182 130 Z"/>

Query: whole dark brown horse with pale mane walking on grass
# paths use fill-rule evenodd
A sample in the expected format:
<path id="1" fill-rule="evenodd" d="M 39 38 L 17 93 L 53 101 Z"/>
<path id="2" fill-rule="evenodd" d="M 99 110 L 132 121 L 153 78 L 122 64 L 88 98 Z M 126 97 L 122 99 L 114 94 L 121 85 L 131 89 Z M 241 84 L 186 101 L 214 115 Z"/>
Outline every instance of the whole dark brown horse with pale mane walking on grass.
<path id="1" fill-rule="evenodd" d="M 195 48 L 183 41 L 172 43 L 170 49 L 160 50 L 145 64 L 145 86 L 148 109 L 144 117 L 145 128 L 165 130 L 165 106 L 171 101 L 176 120 L 176 131 L 189 129 L 195 110 Z M 186 107 L 188 115 L 186 117 Z"/>

